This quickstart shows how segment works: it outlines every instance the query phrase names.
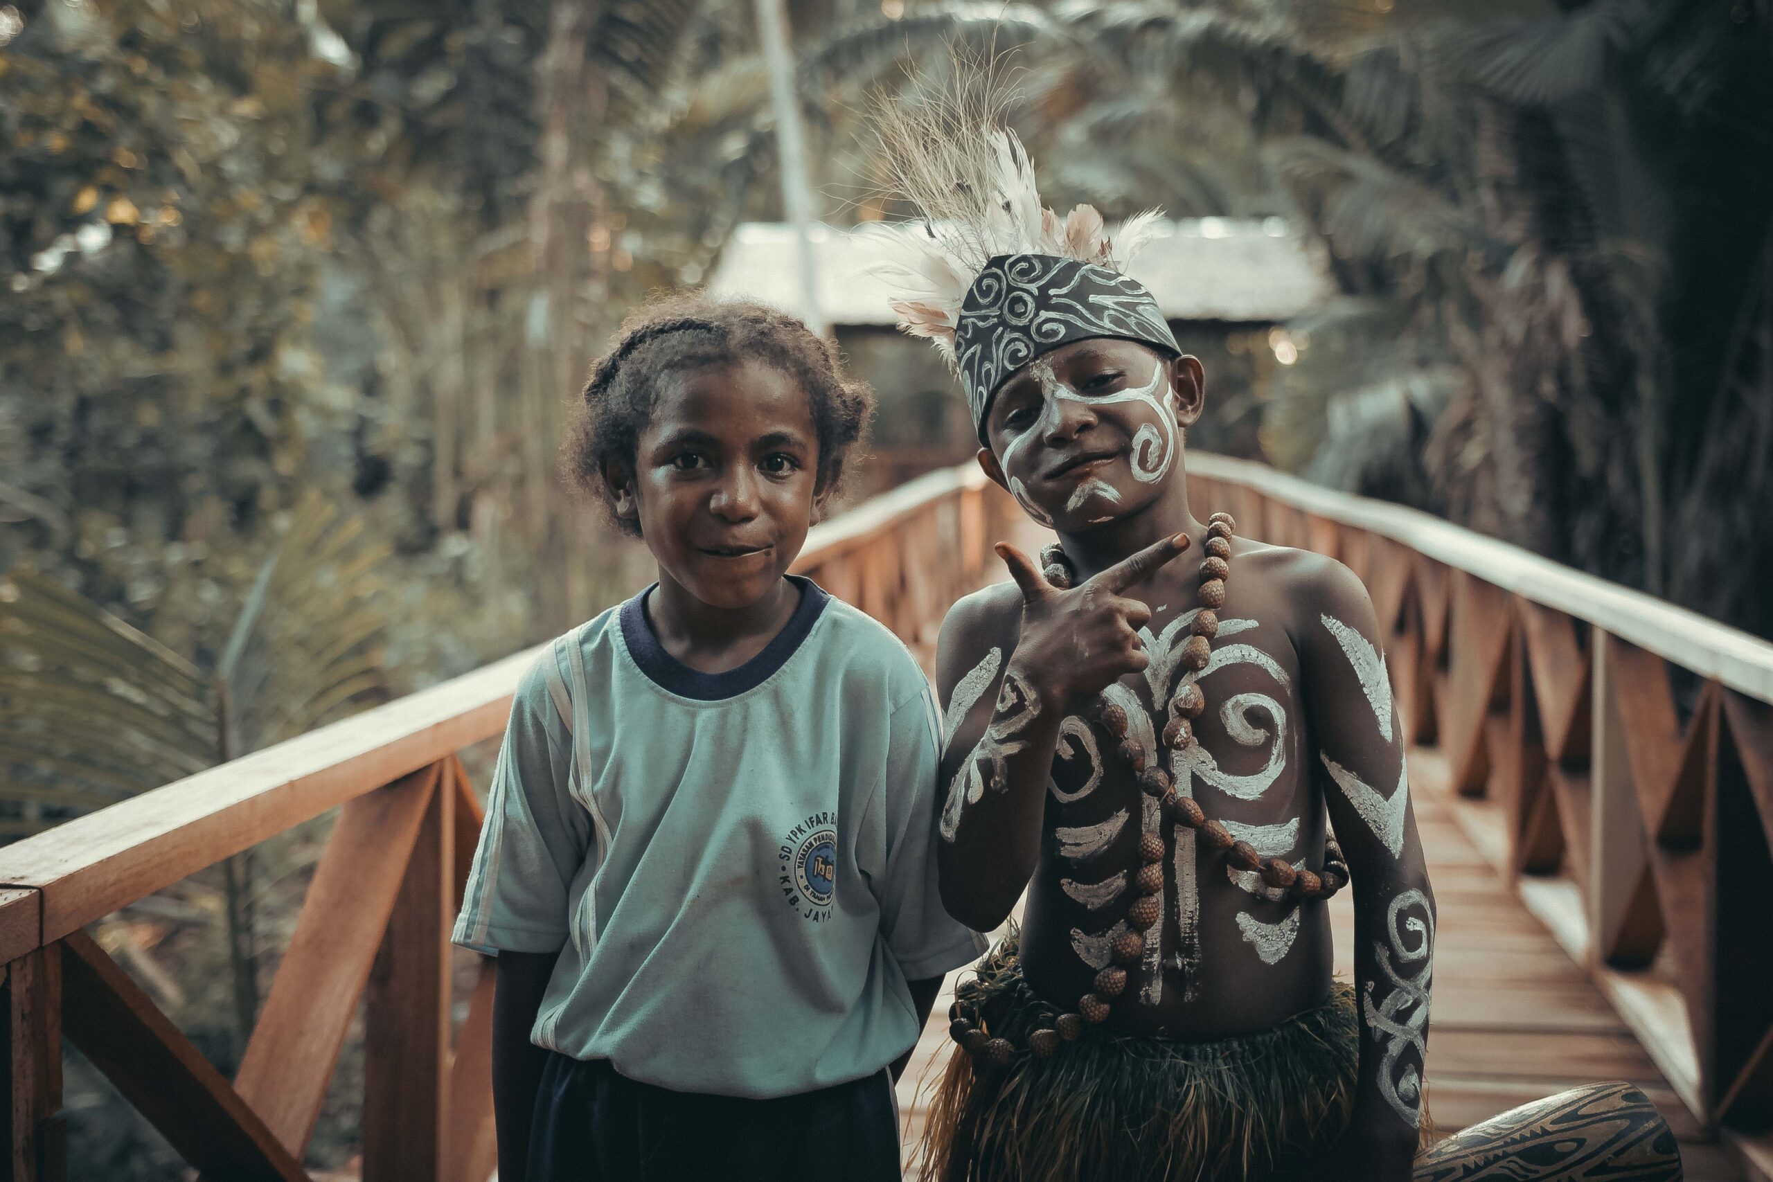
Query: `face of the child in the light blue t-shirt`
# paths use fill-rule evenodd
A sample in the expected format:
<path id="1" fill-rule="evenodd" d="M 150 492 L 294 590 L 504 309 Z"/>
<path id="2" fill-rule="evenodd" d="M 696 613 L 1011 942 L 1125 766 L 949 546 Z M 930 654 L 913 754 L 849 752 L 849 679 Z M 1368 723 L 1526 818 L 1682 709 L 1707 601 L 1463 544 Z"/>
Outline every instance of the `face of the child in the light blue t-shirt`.
<path id="1" fill-rule="evenodd" d="M 761 362 L 711 365 L 660 392 L 617 480 L 661 576 L 713 608 L 769 594 L 812 525 L 819 436 L 800 385 Z"/>

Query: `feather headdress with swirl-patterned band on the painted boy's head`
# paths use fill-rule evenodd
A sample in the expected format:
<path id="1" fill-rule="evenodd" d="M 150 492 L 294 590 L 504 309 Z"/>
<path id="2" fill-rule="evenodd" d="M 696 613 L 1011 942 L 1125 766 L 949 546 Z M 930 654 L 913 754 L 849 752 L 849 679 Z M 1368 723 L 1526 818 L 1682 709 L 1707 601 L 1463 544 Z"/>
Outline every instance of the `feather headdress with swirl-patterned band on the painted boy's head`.
<path id="1" fill-rule="evenodd" d="M 1034 356 L 1083 337 L 1129 337 L 1181 353 L 1156 301 L 1126 276 L 1158 230 L 1147 209 L 1108 232 L 1094 206 L 1060 218 L 1041 204 L 1034 165 L 982 71 L 915 108 L 876 117 L 886 190 L 924 214 L 867 236 L 899 328 L 927 337 L 961 376 L 975 425 L 991 395 Z"/>

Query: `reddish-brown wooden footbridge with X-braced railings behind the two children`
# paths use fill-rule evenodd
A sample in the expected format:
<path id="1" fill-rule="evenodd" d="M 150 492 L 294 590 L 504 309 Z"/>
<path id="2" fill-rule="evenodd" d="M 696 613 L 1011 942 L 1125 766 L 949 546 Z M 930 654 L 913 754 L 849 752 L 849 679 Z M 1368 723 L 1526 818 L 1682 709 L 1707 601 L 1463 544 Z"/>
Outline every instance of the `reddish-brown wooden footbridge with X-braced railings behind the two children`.
<path id="1" fill-rule="evenodd" d="M 1190 466 L 1197 505 L 1335 555 L 1390 629 L 1440 902 L 1436 1122 L 1626 1077 L 1690 1178 L 1773 1178 L 1773 645 L 1413 510 Z M 927 657 L 949 603 L 998 578 L 991 542 L 1027 530 L 977 471 L 938 471 L 817 526 L 798 569 Z M 504 730 L 532 659 L 0 849 L 7 1177 L 66 1177 L 66 1035 L 202 1177 L 307 1178 L 362 1003 L 363 1178 L 484 1182 L 491 969 L 459 984 L 449 946 L 480 820 L 457 751 Z M 333 808 L 225 1079 L 83 929 Z M 1351 939 L 1342 909 L 1344 969 Z M 908 1132 L 941 1008 L 901 1083 Z"/>

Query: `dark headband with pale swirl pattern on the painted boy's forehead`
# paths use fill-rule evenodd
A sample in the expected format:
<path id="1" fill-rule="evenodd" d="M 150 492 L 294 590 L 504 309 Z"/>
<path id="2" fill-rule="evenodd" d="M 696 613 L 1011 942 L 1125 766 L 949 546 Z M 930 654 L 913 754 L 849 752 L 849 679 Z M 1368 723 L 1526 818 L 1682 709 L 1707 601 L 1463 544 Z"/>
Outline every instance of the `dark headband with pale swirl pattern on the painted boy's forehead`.
<path id="1" fill-rule="evenodd" d="M 961 303 L 954 333 L 961 388 L 986 443 L 991 395 L 1018 369 L 1062 344 L 1122 337 L 1181 354 L 1144 284 L 1092 262 L 1055 255 L 995 255 Z"/>

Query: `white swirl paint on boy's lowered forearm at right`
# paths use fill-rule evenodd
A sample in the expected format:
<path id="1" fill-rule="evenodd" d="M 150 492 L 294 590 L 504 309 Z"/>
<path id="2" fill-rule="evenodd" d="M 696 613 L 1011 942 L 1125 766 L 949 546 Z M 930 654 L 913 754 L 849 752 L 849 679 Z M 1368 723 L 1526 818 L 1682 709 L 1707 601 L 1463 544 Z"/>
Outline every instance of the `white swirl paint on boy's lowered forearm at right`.
<path id="1" fill-rule="evenodd" d="M 1404 909 L 1420 914 L 1404 916 Z M 1422 1063 L 1427 1061 L 1429 984 L 1434 978 L 1434 913 L 1427 897 L 1410 888 L 1392 900 L 1385 916 L 1385 943 L 1372 943 L 1372 959 L 1392 984 L 1374 1003 L 1374 982 L 1365 984 L 1362 1012 L 1367 1033 L 1381 1044 L 1379 1093 L 1399 1116 L 1415 1125 L 1422 1111 Z M 1418 966 L 1406 975 L 1406 966 Z M 1415 1061 L 1399 1060 L 1415 1051 Z"/>

